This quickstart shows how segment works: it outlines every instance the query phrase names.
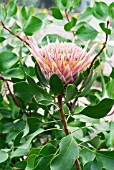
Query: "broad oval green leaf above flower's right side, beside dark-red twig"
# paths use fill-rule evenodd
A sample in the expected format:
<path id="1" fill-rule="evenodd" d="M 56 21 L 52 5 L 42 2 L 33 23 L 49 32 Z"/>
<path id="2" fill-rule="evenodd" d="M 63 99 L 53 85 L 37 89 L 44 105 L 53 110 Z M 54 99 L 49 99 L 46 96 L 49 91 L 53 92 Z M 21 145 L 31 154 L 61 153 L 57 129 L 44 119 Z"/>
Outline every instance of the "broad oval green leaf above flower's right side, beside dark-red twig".
<path id="1" fill-rule="evenodd" d="M 95 39 L 97 34 L 98 32 L 90 25 L 83 25 L 76 32 L 76 35 L 84 41 Z"/>

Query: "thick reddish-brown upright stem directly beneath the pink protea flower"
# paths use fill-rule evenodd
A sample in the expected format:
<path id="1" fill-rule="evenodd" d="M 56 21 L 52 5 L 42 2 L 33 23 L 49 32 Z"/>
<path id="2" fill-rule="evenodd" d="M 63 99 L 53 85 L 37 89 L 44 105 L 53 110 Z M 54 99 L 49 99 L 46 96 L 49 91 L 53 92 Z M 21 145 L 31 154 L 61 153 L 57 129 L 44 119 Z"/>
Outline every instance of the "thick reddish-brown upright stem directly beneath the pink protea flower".
<path id="1" fill-rule="evenodd" d="M 61 115 L 61 121 L 62 121 L 62 124 L 64 127 L 64 132 L 65 132 L 66 136 L 68 136 L 71 132 L 68 131 L 67 120 L 66 120 L 66 116 L 64 113 L 63 105 L 62 105 L 62 97 L 63 97 L 63 94 L 60 94 L 58 96 L 58 106 L 60 108 L 60 115 Z M 79 163 L 78 159 L 76 159 L 75 165 L 76 165 L 76 170 L 81 170 L 80 163 Z"/>

